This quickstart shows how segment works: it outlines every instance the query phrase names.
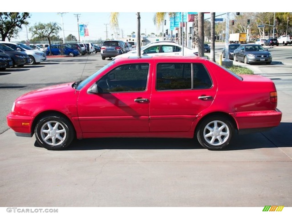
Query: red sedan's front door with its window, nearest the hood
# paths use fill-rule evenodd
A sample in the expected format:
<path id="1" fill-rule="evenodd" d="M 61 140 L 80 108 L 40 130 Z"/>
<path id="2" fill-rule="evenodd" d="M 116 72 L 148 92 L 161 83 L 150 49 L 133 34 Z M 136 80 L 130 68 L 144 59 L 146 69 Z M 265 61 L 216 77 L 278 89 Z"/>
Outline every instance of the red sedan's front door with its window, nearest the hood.
<path id="1" fill-rule="evenodd" d="M 78 116 L 84 135 L 149 132 L 150 66 L 120 65 L 94 81 L 98 93 L 81 90 Z"/>

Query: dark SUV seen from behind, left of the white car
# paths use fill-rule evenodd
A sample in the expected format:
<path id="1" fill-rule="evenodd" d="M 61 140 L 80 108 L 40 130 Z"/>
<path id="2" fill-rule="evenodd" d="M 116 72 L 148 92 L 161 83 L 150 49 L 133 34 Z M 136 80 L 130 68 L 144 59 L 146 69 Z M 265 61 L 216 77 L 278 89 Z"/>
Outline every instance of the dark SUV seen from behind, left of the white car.
<path id="1" fill-rule="evenodd" d="M 112 58 L 126 52 L 126 45 L 123 41 L 108 40 L 103 42 L 100 54 L 101 58 L 105 60 L 105 58 Z"/>

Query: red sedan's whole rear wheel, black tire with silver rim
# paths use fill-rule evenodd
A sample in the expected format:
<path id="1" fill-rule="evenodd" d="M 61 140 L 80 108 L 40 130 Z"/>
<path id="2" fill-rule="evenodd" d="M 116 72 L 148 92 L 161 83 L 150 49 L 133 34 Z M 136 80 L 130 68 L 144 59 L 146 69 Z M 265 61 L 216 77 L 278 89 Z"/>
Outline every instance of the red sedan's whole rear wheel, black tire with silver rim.
<path id="1" fill-rule="evenodd" d="M 234 126 L 227 117 L 210 116 L 199 125 L 197 140 L 208 150 L 220 150 L 229 144 L 233 133 Z"/>

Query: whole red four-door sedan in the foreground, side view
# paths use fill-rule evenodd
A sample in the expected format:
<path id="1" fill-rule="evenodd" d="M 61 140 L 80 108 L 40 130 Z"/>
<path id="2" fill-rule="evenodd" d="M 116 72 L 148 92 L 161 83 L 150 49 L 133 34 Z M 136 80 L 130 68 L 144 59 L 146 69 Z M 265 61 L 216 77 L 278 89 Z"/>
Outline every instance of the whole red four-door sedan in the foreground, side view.
<path id="1" fill-rule="evenodd" d="M 209 150 L 278 126 L 274 83 L 206 59 L 121 58 L 83 81 L 29 92 L 7 116 L 17 136 L 50 150 L 74 138 L 197 138 Z"/>

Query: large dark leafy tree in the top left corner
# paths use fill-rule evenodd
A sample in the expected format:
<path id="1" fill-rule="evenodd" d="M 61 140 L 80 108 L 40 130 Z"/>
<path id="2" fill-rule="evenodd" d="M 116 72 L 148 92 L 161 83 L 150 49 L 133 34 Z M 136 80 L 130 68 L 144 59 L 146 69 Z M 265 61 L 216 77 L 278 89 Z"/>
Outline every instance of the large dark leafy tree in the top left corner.
<path id="1" fill-rule="evenodd" d="M 10 41 L 13 36 L 17 36 L 22 25 L 27 25 L 27 18 L 30 18 L 28 12 L 0 12 L 0 33 L 2 40 L 6 38 Z"/>

